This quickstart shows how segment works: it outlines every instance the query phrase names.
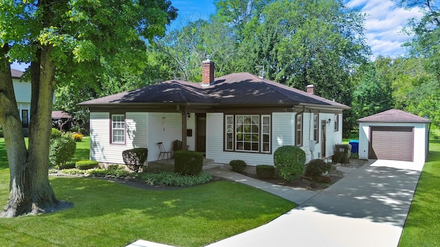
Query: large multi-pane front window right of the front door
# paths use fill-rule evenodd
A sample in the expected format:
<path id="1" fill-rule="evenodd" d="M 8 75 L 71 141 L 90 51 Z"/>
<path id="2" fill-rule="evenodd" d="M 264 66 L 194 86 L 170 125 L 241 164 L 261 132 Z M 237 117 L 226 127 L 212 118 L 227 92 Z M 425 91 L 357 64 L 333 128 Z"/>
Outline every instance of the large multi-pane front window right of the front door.
<path id="1" fill-rule="evenodd" d="M 225 150 L 270 153 L 270 115 L 226 115 Z"/>

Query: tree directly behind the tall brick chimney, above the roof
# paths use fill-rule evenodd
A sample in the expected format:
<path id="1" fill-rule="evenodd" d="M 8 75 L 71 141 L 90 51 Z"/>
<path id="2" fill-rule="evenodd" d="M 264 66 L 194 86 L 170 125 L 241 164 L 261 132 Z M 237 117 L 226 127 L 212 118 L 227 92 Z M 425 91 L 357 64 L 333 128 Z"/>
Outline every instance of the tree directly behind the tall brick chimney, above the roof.
<path id="1" fill-rule="evenodd" d="M 173 67 L 174 77 L 200 82 L 201 62 L 210 56 L 215 61 L 215 76 L 232 73 L 236 56 L 236 41 L 228 25 L 217 19 L 199 19 L 179 30 L 157 39 L 157 50 L 165 54 Z"/>

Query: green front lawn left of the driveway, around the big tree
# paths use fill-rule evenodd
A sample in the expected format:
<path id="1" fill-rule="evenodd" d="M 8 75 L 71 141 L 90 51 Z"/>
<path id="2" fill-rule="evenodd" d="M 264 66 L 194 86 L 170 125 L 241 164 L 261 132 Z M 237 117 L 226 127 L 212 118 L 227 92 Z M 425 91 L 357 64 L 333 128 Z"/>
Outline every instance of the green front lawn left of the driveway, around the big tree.
<path id="1" fill-rule="evenodd" d="M 88 139 L 76 159 L 89 156 Z M 133 189 L 97 178 L 51 177 L 59 200 L 74 208 L 0 219 L 1 246 L 125 246 L 137 239 L 204 246 L 273 220 L 296 205 L 259 189 L 219 181 L 171 191 Z M 0 139 L 0 204 L 9 169 Z"/>

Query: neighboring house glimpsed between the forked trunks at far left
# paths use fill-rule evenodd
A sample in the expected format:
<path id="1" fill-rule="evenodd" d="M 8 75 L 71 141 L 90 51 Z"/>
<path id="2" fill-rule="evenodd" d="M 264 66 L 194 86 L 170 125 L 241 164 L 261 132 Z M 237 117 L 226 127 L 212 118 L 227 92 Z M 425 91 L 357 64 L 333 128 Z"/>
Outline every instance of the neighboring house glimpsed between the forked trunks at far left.
<path id="1" fill-rule="evenodd" d="M 12 83 L 14 84 L 15 99 L 17 99 L 17 107 L 19 108 L 21 125 L 23 126 L 25 134 L 27 134 L 30 120 L 31 85 L 30 82 L 22 81 L 21 76 L 23 75 L 23 71 L 11 69 L 11 75 Z"/>

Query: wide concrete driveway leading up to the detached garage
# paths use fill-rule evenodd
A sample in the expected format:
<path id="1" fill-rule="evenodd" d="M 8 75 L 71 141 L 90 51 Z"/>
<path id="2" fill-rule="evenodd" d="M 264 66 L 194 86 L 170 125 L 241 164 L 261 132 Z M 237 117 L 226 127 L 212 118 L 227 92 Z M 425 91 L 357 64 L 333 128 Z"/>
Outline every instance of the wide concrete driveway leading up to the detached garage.
<path id="1" fill-rule="evenodd" d="M 272 222 L 209 246 L 397 246 L 422 168 L 371 161 Z"/>

